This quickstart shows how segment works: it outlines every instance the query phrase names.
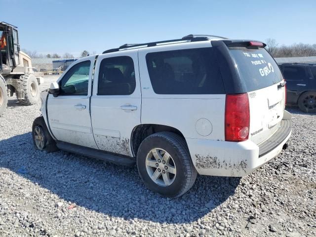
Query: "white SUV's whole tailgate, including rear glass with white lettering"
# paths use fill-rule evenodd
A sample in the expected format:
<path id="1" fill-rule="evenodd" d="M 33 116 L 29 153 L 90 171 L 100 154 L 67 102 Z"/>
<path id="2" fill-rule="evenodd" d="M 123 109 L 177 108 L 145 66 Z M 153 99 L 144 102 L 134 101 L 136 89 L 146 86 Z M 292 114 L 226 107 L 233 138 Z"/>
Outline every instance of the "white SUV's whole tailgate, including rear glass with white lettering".
<path id="1" fill-rule="evenodd" d="M 285 108 L 285 83 L 275 60 L 264 48 L 229 47 L 249 97 L 249 140 L 259 144 L 279 127 Z"/>

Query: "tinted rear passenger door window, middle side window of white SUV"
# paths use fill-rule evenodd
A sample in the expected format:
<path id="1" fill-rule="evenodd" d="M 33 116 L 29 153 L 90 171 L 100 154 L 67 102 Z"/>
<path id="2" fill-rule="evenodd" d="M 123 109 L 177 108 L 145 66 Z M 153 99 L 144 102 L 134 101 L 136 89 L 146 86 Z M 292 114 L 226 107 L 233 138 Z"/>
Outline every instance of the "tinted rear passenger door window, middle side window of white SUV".
<path id="1" fill-rule="evenodd" d="M 133 59 L 118 56 L 102 59 L 98 95 L 130 95 L 136 87 Z"/>

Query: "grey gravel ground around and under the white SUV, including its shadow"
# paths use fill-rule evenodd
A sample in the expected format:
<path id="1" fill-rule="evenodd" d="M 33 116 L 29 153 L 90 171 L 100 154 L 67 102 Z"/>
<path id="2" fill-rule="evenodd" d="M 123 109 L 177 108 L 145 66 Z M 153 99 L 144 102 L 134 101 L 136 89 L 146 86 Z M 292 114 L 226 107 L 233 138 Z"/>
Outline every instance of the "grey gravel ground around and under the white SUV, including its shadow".
<path id="1" fill-rule="evenodd" d="M 289 108 L 289 147 L 253 174 L 199 176 L 170 199 L 136 166 L 36 151 L 39 109 L 10 99 L 0 117 L 0 236 L 316 236 L 315 114 Z"/>

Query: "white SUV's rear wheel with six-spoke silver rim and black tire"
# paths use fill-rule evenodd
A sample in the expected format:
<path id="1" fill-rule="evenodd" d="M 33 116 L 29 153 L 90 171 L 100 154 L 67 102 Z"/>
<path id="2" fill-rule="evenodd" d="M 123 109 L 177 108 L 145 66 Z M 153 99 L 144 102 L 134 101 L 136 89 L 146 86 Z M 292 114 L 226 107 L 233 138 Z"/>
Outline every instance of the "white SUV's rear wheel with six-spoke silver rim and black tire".
<path id="1" fill-rule="evenodd" d="M 156 156 L 161 157 L 162 161 L 160 159 L 159 162 L 159 159 L 154 156 L 155 151 L 160 154 Z M 166 163 L 162 164 L 168 155 L 171 157 L 167 161 L 169 171 L 166 168 L 163 169 Z M 147 161 L 153 166 L 147 165 Z M 154 167 L 157 164 L 158 167 Z M 197 178 L 197 170 L 192 163 L 185 140 L 172 132 L 158 132 L 144 139 L 137 152 L 137 168 L 146 187 L 164 197 L 182 196 L 191 189 Z M 159 168 L 161 168 L 160 171 Z M 159 177 L 154 181 L 151 176 L 154 177 L 156 172 L 161 174 L 158 173 Z M 166 178 L 169 183 L 167 185 L 164 181 L 166 176 L 169 178 Z"/>

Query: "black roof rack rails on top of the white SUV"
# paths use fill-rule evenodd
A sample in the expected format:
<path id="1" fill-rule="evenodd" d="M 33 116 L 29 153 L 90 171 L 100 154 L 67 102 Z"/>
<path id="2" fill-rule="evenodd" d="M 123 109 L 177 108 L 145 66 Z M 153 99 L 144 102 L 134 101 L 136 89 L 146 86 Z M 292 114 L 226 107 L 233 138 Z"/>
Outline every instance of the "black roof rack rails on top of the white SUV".
<path id="1" fill-rule="evenodd" d="M 148 43 L 125 43 L 118 48 L 112 48 L 105 50 L 103 53 L 112 53 L 112 52 L 117 52 L 120 51 L 121 49 L 127 49 L 127 48 L 135 48 L 135 47 L 152 47 L 152 46 L 157 46 L 157 44 L 167 44 L 167 43 L 173 43 L 173 42 L 183 42 L 183 41 L 189 41 L 189 42 L 197 42 L 197 41 L 206 41 L 206 40 L 211 40 L 211 39 L 227 39 L 224 37 L 220 36 L 211 36 L 211 35 L 188 35 L 185 37 L 182 37 L 181 39 L 176 39 L 176 40 L 163 40 L 163 41 L 156 41 L 156 42 L 148 42 Z"/>

